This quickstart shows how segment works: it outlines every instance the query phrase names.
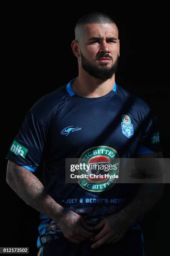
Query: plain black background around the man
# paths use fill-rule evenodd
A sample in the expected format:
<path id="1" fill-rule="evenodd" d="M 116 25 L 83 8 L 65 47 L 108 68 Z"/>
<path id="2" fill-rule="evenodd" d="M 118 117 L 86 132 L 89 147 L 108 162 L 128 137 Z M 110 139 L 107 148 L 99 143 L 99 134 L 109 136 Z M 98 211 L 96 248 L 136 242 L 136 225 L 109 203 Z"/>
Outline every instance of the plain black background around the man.
<path id="1" fill-rule="evenodd" d="M 81 2 L 70 6 L 65 3 L 64 7 L 9 4 L 4 8 L 2 20 L 5 59 L 1 102 L 5 125 L 0 246 L 27 246 L 30 255 L 37 254 L 39 213 L 5 183 L 5 157 L 30 107 L 43 95 L 77 76 L 77 59 L 71 49 L 74 26 L 78 18 L 92 11 L 102 11 L 115 20 L 120 39 L 120 62 L 115 81 L 149 103 L 160 120 L 164 157 L 170 157 L 168 7 L 163 4 L 154 4 L 151 8 L 147 4 L 117 7 L 113 3 L 100 5 L 97 2 L 95 8 Z M 41 176 L 41 169 L 37 175 Z M 169 254 L 166 251 L 169 187 L 167 184 L 164 196 L 142 222 L 147 256 Z"/>

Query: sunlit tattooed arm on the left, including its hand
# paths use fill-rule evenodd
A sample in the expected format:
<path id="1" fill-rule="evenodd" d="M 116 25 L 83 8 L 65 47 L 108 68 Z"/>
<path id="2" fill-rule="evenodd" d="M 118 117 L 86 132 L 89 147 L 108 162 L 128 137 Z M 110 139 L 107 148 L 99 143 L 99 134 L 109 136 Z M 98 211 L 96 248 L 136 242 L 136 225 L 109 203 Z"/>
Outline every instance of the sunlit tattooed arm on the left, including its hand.
<path id="1" fill-rule="evenodd" d="M 60 224 L 64 236 L 73 243 L 80 243 L 92 236 L 91 230 L 82 216 L 66 211 L 55 200 L 47 195 L 44 186 L 28 169 L 8 161 L 7 184 L 28 205 Z"/>

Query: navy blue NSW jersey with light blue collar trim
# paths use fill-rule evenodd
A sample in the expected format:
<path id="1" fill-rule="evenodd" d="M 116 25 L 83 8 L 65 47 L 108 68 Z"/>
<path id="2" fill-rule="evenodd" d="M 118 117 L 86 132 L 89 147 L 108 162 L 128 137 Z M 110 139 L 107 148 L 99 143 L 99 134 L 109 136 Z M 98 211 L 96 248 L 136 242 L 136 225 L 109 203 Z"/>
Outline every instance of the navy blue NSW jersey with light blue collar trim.
<path id="1" fill-rule="evenodd" d="M 125 207 L 138 184 L 113 185 L 105 179 L 95 180 L 97 185 L 90 180 L 66 184 L 65 159 L 106 163 L 114 158 L 158 152 L 158 120 L 143 100 L 116 83 L 107 95 L 88 98 L 75 95 L 72 81 L 32 106 L 7 159 L 32 172 L 43 161 L 47 194 L 95 222 Z M 40 217 L 40 234 L 60 232 L 57 223 L 42 214 Z"/>

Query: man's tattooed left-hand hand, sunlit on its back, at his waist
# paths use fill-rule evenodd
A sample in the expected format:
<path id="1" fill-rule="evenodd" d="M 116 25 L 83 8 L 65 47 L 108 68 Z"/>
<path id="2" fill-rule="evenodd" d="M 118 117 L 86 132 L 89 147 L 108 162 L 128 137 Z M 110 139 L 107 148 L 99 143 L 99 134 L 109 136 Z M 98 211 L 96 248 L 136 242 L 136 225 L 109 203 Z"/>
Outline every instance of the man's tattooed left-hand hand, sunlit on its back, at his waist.
<path id="1" fill-rule="evenodd" d="M 65 211 L 60 218 L 59 225 L 65 238 L 72 243 L 80 243 L 81 241 L 92 238 L 93 230 L 82 216 L 72 211 Z M 88 231 L 87 231 L 88 230 Z"/>

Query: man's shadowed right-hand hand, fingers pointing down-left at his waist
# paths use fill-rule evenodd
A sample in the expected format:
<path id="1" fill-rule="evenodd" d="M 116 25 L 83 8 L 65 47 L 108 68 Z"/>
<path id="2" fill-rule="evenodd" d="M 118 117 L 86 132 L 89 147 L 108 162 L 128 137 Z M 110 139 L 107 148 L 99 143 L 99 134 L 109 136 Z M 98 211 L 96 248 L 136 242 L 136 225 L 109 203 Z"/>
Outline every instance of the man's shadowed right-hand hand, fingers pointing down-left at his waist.
<path id="1" fill-rule="evenodd" d="M 100 232 L 94 236 L 92 241 L 97 241 L 92 244 L 92 248 L 101 246 L 104 243 L 116 243 L 126 233 L 130 226 L 130 223 L 119 213 L 110 215 L 100 221 L 93 231 L 100 230 Z"/>

